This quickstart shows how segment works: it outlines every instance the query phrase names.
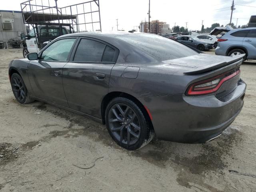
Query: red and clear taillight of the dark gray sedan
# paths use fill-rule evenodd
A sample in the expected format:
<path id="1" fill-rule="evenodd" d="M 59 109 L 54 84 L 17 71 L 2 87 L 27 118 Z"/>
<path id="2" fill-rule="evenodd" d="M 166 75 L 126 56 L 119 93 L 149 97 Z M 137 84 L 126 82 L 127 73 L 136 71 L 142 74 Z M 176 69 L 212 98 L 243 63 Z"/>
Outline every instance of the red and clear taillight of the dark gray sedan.
<path id="1" fill-rule="evenodd" d="M 224 82 L 237 76 L 238 74 L 240 74 L 240 70 L 236 69 L 234 71 L 229 71 L 224 74 L 215 76 L 213 78 L 209 78 L 206 80 L 193 83 L 188 87 L 186 95 L 199 96 L 199 95 L 212 94 L 218 91 L 218 89 Z"/>

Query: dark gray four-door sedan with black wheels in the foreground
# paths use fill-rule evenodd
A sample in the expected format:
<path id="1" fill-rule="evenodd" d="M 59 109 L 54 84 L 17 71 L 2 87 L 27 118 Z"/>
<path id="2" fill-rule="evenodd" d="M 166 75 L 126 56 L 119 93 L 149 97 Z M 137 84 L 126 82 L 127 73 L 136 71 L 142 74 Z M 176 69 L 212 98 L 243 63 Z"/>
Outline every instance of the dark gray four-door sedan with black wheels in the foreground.
<path id="1" fill-rule="evenodd" d="M 161 140 L 218 137 L 244 104 L 244 55 L 203 54 L 154 34 L 76 33 L 13 60 L 9 77 L 21 104 L 34 100 L 106 124 L 128 150 Z"/>

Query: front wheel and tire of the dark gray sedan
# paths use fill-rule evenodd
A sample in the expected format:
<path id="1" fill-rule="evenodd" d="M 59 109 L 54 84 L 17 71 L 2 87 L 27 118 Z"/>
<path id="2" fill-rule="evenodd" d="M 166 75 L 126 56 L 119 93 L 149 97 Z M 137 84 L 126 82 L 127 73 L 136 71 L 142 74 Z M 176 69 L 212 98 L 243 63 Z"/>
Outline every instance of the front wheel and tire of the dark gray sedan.
<path id="1" fill-rule="evenodd" d="M 34 102 L 34 99 L 32 99 L 29 96 L 26 85 L 19 74 L 17 73 L 12 74 L 11 86 L 12 86 L 12 92 L 18 102 L 20 102 L 21 104 Z"/>

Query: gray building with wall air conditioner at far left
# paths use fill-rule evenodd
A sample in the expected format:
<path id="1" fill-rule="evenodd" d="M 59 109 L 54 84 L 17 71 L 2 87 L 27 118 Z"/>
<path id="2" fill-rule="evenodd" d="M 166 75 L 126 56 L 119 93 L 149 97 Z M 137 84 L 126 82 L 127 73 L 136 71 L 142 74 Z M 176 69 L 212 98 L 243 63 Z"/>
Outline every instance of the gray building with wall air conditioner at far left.
<path id="1" fill-rule="evenodd" d="M 0 10 L 0 41 L 20 37 L 26 33 L 21 11 Z"/>

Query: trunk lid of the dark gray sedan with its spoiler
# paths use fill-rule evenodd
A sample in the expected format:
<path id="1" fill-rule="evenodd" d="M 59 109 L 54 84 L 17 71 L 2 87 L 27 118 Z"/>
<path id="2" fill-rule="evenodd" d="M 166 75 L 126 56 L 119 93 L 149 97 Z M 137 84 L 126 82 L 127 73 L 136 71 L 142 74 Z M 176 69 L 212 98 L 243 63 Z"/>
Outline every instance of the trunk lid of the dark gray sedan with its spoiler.
<path id="1" fill-rule="evenodd" d="M 220 74 L 230 75 L 239 70 L 245 54 L 234 57 L 198 54 L 173 60 L 163 61 L 165 64 L 177 66 L 183 75 L 190 79 L 187 88 L 196 82 L 207 80 Z M 222 98 L 230 94 L 238 85 L 240 74 L 224 82 L 218 91 L 214 92 L 216 98 Z"/>

